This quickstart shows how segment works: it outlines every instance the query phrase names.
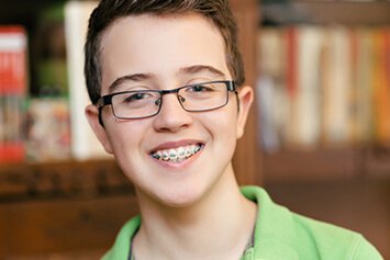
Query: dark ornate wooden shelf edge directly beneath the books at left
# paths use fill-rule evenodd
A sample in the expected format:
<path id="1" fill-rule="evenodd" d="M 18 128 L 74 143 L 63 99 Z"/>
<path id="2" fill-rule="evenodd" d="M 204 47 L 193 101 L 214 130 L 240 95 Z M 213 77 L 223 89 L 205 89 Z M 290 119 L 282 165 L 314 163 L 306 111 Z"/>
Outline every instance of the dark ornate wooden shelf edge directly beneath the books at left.
<path id="1" fill-rule="evenodd" d="M 0 203 L 45 197 L 99 196 L 134 193 L 115 161 L 53 161 L 2 165 Z"/>

